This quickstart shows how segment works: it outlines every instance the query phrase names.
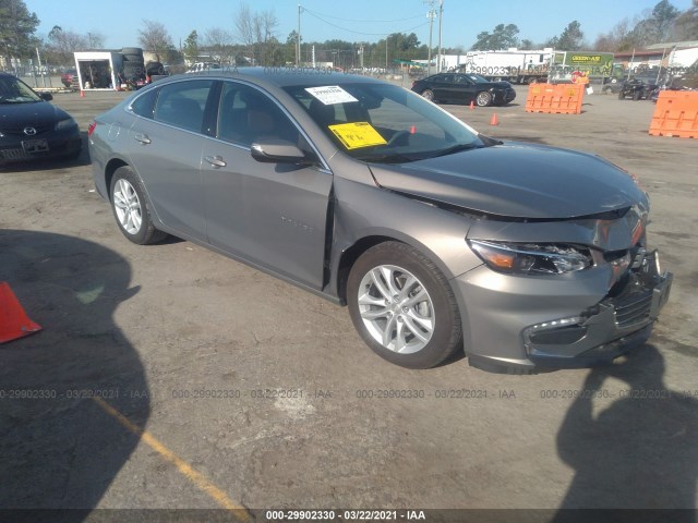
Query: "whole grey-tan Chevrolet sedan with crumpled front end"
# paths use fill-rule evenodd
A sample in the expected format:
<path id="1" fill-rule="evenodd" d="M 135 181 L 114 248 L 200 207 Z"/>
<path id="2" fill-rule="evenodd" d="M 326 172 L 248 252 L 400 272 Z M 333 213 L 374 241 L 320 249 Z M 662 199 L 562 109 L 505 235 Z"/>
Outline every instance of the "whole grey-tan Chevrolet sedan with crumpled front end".
<path id="1" fill-rule="evenodd" d="M 493 372 L 602 364 L 648 339 L 669 296 L 630 174 L 495 141 L 381 81 L 173 76 L 88 135 L 127 239 L 173 234 L 346 304 L 406 367 L 460 350 Z"/>

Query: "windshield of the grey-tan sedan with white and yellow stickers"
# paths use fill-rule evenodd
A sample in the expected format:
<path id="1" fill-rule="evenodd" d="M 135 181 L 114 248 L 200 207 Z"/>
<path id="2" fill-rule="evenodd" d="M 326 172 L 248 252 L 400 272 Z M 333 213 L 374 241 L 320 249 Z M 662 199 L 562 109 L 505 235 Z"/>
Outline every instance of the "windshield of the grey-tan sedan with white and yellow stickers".
<path id="1" fill-rule="evenodd" d="M 468 125 L 395 85 L 286 90 L 340 150 L 363 161 L 401 163 L 485 146 Z"/>

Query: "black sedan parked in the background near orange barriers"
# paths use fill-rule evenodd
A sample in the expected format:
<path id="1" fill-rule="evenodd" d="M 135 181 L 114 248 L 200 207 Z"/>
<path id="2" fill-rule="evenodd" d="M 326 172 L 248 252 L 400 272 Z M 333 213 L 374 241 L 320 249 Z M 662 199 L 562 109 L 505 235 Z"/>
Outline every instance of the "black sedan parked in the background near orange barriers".
<path id="1" fill-rule="evenodd" d="M 479 74 L 438 73 L 418 80 L 412 90 L 428 100 L 452 104 L 474 104 L 479 107 L 504 106 L 516 92 L 508 82 L 490 82 Z"/>

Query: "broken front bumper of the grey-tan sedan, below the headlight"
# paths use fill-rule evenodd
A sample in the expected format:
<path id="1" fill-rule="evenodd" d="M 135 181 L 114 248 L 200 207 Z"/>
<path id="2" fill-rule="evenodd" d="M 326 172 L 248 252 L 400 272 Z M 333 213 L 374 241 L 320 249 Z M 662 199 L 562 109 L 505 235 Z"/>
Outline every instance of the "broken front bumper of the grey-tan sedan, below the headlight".
<path id="1" fill-rule="evenodd" d="M 458 281 L 466 295 L 482 295 L 474 303 L 488 303 L 485 295 L 500 291 L 492 306 L 467 312 L 471 337 L 466 351 L 472 366 L 508 373 L 590 367 L 641 345 L 669 299 L 673 279 L 671 272 L 661 272 L 657 252 L 637 257 L 600 301 L 592 296 L 603 295 L 598 291 L 607 277 L 599 271 L 551 284 L 485 270 Z M 514 314 L 517 307 L 519 315 Z M 507 339 L 515 350 L 502 349 Z"/>

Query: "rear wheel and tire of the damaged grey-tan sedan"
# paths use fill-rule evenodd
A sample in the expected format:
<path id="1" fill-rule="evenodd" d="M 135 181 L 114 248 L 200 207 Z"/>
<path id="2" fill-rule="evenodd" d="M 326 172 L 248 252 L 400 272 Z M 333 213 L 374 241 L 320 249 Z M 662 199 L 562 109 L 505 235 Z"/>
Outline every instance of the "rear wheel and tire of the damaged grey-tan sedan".
<path id="1" fill-rule="evenodd" d="M 111 210 L 119 229 L 133 243 L 147 245 L 167 234 L 153 224 L 141 180 L 130 167 L 120 167 L 111 179 Z"/>

